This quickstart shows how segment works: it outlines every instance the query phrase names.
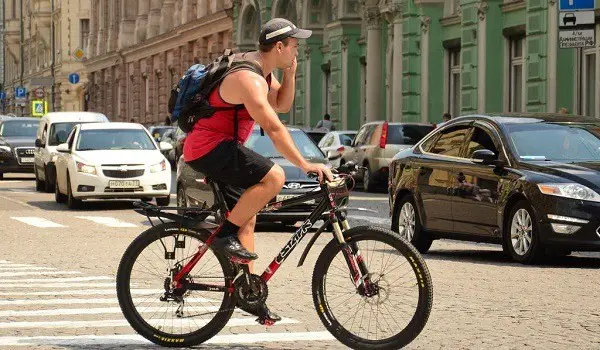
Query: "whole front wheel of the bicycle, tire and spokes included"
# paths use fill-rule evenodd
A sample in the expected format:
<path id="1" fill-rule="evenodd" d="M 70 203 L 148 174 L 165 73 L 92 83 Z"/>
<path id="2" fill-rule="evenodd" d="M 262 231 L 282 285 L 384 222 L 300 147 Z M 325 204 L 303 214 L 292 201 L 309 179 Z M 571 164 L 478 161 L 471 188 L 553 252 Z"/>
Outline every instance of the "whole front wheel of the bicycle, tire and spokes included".
<path id="1" fill-rule="evenodd" d="M 337 240 L 321 252 L 313 272 L 315 308 L 325 328 L 354 349 L 399 349 L 425 327 L 433 284 L 417 250 L 393 231 L 360 226 L 344 233 L 356 244 L 374 293 L 360 291 Z M 365 276 L 363 276 L 365 278 Z"/>

